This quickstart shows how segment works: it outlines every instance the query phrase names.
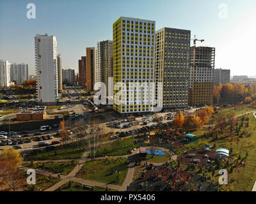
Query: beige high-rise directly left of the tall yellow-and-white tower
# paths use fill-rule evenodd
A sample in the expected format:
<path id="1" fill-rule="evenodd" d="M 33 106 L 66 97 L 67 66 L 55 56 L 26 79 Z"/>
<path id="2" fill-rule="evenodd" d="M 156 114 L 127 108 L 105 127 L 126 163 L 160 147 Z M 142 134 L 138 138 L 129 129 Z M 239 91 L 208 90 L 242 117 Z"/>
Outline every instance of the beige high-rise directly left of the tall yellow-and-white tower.
<path id="1" fill-rule="evenodd" d="M 113 77 L 113 41 L 106 40 L 97 43 L 98 66 L 100 69 L 100 82 L 106 85 L 106 96 L 109 95 L 108 87 L 113 93 L 113 83 L 109 81 Z"/>

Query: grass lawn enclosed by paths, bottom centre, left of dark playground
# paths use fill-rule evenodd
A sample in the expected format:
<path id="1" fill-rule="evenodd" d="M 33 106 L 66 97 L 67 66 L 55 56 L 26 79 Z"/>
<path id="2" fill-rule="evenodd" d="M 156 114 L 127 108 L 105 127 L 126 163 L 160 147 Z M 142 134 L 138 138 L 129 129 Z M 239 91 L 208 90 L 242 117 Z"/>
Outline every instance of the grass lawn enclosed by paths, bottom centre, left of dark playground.
<path id="1" fill-rule="evenodd" d="M 126 161 L 126 158 L 88 161 L 84 163 L 80 173 L 77 173 L 77 177 L 121 186 L 128 172 L 129 164 Z M 119 179 L 116 170 L 121 172 L 118 174 Z"/>

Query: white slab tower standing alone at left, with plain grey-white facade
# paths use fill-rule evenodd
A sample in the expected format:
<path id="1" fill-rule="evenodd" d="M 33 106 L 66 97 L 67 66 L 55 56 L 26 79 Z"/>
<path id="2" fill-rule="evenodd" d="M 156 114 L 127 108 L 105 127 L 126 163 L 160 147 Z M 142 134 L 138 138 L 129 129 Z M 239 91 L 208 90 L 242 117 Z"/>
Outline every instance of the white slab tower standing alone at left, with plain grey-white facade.
<path id="1" fill-rule="evenodd" d="M 47 34 L 35 36 L 36 97 L 40 103 L 58 99 L 57 41 Z"/>

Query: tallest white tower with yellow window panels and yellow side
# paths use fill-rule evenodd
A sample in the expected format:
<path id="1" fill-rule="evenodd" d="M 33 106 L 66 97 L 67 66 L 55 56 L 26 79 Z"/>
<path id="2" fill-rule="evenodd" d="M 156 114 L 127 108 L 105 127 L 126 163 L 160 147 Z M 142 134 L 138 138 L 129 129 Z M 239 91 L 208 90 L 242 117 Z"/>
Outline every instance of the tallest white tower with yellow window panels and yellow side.
<path id="1" fill-rule="evenodd" d="M 113 108 L 116 112 L 154 110 L 155 26 L 152 20 L 127 17 L 120 17 L 113 24 Z M 122 90 L 115 90 L 115 85 Z"/>

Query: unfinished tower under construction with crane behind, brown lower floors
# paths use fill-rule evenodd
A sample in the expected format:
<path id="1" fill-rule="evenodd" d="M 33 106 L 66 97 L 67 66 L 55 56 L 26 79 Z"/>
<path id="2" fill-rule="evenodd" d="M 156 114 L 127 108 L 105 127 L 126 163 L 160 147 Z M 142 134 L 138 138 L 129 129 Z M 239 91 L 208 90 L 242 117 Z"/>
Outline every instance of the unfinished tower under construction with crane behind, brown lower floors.
<path id="1" fill-rule="evenodd" d="M 190 50 L 189 105 L 212 105 L 215 48 Z"/>

